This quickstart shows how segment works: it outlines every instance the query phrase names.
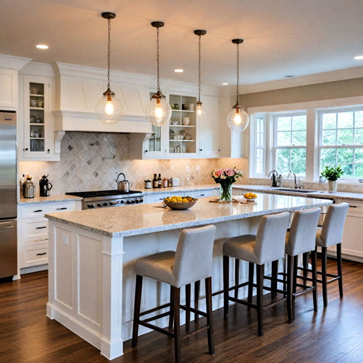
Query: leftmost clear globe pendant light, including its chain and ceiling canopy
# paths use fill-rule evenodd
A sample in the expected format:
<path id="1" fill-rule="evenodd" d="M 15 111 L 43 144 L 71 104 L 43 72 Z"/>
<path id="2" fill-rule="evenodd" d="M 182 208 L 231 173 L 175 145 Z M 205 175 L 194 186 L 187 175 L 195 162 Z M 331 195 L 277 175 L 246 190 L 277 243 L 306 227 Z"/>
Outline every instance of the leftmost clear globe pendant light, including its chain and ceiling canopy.
<path id="1" fill-rule="evenodd" d="M 95 112 L 97 118 L 106 125 L 115 124 L 124 115 L 122 103 L 115 97 L 110 90 L 109 69 L 110 69 L 110 41 L 111 41 L 111 19 L 114 19 L 114 13 L 102 13 L 102 18 L 108 21 L 108 48 L 107 48 L 107 90 L 103 97 L 97 102 Z"/>

